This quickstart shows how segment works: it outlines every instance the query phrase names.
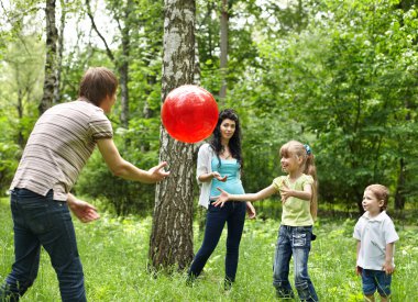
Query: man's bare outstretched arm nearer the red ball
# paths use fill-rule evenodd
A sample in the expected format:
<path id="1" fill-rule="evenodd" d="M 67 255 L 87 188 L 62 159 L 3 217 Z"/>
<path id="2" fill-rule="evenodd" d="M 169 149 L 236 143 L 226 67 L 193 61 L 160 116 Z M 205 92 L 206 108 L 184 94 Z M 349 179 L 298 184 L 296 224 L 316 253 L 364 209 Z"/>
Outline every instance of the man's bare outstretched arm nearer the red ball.
<path id="1" fill-rule="evenodd" d="M 118 177 L 144 183 L 155 183 L 169 175 L 169 172 L 164 170 L 164 167 L 167 166 L 167 163 L 165 161 L 147 171 L 136 168 L 120 156 L 119 150 L 111 138 L 99 139 L 97 145 L 109 169 Z"/>

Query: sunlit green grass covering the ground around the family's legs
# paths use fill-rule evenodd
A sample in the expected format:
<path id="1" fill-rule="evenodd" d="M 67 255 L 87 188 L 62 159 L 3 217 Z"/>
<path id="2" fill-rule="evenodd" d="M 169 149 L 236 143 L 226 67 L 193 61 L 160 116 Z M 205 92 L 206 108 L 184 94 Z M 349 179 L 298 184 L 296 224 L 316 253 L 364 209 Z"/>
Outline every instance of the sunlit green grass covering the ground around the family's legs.
<path id="1" fill-rule="evenodd" d="M 354 273 L 355 219 L 321 219 L 315 227 L 309 273 L 321 301 L 363 301 L 361 279 Z M 395 225 L 397 221 L 395 220 Z M 147 273 L 147 246 L 152 219 L 118 219 L 102 214 L 101 220 L 81 224 L 75 220 L 78 248 L 85 270 L 89 301 L 274 301 L 272 261 L 279 222 L 271 219 L 246 221 L 240 248 L 237 282 L 223 290 L 226 232 L 193 288 L 186 276 Z M 201 237 L 195 227 L 195 250 Z M 398 230 L 397 270 L 393 278 L 393 300 L 417 301 L 418 246 L 416 225 Z M 0 200 L 0 280 L 13 261 L 13 232 L 9 202 Z M 293 276 L 290 276 L 290 281 Z M 59 301 L 58 283 L 48 256 L 42 253 L 38 277 L 21 301 Z"/>

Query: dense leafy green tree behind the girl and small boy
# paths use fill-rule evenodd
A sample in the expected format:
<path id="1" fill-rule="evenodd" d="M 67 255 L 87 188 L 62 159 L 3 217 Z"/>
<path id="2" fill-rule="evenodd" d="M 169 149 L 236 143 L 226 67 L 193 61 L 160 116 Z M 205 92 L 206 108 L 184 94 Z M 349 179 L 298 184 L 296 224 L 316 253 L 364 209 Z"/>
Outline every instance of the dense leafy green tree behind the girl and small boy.
<path id="1" fill-rule="evenodd" d="M 260 43 L 268 70 L 263 82 L 275 97 L 254 103 L 274 114 L 285 112 L 315 135 L 320 186 L 327 188 L 320 193 L 327 201 L 351 197 L 360 202 L 371 182 L 395 191 L 399 158 L 407 158 L 410 169 L 414 139 L 399 126 L 416 128 L 410 60 L 417 58 L 411 43 L 417 24 L 408 21 L 415 15 L 414 9 L 394 10 L 386 1 L 323 2 L 306 30 Z M 399 63 L 405 57 L 408 63 Z M 415 180 L 408 174 L 406 187 Z"/>

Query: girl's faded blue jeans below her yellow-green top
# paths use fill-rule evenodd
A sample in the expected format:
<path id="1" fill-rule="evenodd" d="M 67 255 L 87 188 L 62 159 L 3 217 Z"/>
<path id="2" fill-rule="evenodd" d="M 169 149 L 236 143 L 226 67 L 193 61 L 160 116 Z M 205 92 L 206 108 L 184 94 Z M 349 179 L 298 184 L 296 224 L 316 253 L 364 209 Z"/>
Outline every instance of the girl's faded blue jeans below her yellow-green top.
<path id="1" fill-rule="evenodd" d="M 301 301 L 318 301 L 308 275 L 308 257 L 312 235 L 311 226 L 282 225 L 274 257 L 273 286 L 279 298 L 293 298 L 288 279 L 290 257 L 294 257 L 295 287 Z"/>

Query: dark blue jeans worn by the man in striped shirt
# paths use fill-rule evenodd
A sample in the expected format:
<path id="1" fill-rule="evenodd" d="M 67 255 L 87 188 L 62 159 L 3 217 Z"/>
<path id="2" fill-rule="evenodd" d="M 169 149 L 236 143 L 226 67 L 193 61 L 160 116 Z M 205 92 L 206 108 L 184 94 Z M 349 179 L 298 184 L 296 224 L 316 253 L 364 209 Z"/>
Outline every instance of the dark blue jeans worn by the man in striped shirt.
<path id="1" fill-rule="evenodd" d="M 26 189 L 11 194 L 14 264 L 0 289 L 0 301 L 18 301 L 33 284 L 40 266 L 41 245 L 51 257 L 63 301 L 86 301 L 84 273 L 68 206 Z M 10 300 L 9 300 L 10 299 Z"/>

